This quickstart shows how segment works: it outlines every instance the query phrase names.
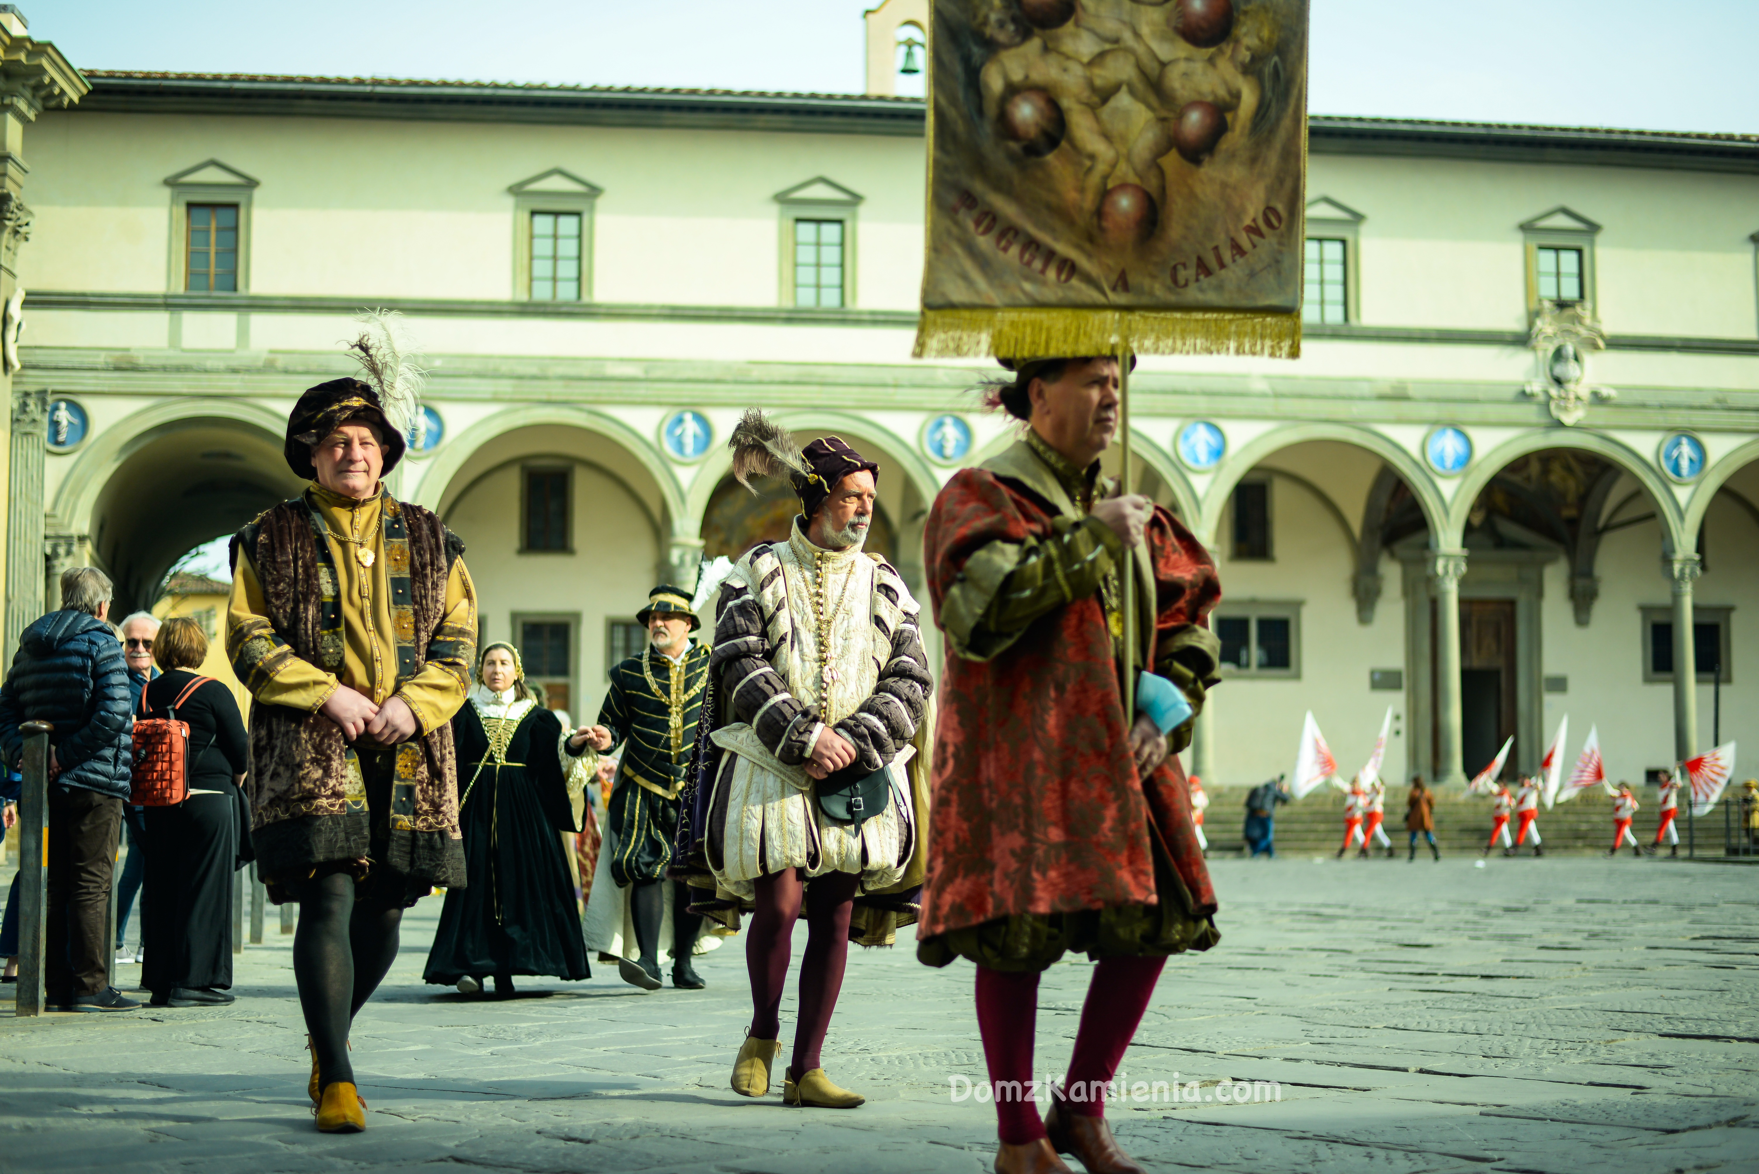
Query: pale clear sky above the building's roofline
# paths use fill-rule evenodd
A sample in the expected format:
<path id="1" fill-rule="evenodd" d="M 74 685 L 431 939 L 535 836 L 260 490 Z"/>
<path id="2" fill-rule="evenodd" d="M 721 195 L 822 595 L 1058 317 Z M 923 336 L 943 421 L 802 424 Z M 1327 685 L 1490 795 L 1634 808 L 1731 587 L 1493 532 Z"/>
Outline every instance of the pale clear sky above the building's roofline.
<path id="1" fill-rule="evenodd" d="M 84 69 L 851 93 L 878 0 L 19 0 Z M 1759 0 L 1312 0 L 1317 114 L 1759 134 Z"/>

